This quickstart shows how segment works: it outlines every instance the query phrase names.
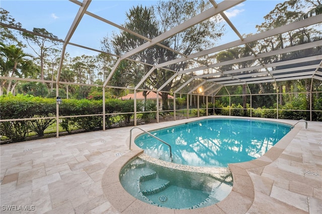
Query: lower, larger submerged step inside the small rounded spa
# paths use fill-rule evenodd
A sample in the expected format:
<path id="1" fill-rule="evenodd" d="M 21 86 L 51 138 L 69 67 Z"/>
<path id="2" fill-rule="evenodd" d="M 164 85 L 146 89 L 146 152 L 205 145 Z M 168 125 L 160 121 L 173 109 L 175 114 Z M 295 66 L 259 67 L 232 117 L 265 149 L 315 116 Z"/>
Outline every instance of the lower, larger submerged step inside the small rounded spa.
<path id="1" fill-rule="evenodd" d="M 169 185 L 170 181 L 155 177 L 145 181 L 141 180 L 140 190 L 143 195 L 150 195 L 165 190 Z"/>

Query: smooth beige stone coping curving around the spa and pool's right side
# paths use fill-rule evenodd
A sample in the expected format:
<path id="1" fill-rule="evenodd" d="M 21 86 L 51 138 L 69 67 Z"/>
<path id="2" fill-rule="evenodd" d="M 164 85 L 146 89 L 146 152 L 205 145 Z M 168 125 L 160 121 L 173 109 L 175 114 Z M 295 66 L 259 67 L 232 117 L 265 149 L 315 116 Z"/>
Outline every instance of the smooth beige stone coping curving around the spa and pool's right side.
<path id="1" fill-rule="evenodd" d="M 209 117 L 207 117 L 209 118 Z M 218 117 L 216 117 L 218 118 Z M 238 117 L 236 117 L 238 118 Z M 245 119 L 245 118 L 244 118 Z M 254 119 L 254 118 L 251 118 Z M 200 120 L 197 118 L 196 120 Z M 254 119 L 256 120 L 256 119 Z M 262 120 L 262 119 L 260 119 Z M 267 119 L 276 122 L 276 120 Z M 288 124 L 288 123 L 285 123 Z M 289 124 L 290 125 L 290 124 Z M 299 132 L 300 127 L 294 127 L 268 152 L 256 160 L 229 164 L 229 169 L 233 176 L 233 187 L 231 192 L 222 201 L 203 208 L 198 208 L 202 213 L 232 213 L 238 210 L 239 213 L 246 213 L 252 206 L 255 198 L 254 181 L 249 172 L 263 171 L 263 168 L 274 162 L 288 146 L 294 136 Z M 139 135 L 140 133 L 136 133 Z M 135 137 L 134 137 L 135 138 Z M 128 145 L 128 143 L 127 143 Z M 170 209 L 167 207 L 158 207 L 145 203 L 130 195 L 121 185 L 119 173 L 122 167 L 131 159 L 143 153 L 135 144 L 134 149 L 117 160 L 115 160 L 104 172 L 102 179 L 102 188 L 105 197 L 121 213 L 192 213 L 194 209 Z"/>

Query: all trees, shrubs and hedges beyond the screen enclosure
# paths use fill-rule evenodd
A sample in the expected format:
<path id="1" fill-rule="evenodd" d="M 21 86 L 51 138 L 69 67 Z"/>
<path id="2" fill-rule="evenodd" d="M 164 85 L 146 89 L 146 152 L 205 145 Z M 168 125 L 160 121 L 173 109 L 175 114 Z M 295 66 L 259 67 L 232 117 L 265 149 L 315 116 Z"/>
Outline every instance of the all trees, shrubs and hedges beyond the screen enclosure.
<path id="1" fill-rule="evenodd" d="M 102 44 L 105 44 L 103 51 L 107 53 L 114 52 L 116 55 L 128 53 L 145 44 L 146 41 L 157 37 L 160 33 L 169 31 L 200 12 L 207 10 L 209 7 L 211 7 L 211 4 L 203 0 L 160 1 L 158 5 L 153 7 L 133 7 L 126 14 L 128 19 L 122 26 L 141 36 L 136 36 L 135 33 L 127 31 L 122 31 L 118 35 L 114 34 L 112 37 L 104 38 L 102 42 Z M 257 26 L 257 29 L 259 32 L 264 32 L 281 25 L 294 23 L 314 14 L 321 14 L 321 8 L 319 1 L 284 1 L 277 4 L 274 10 L 264 17 L 264 23 Z M 304 13 L 303 9 L 307 13 Z M 8 11 L 0 9 L 0 14 L 1 23 L 22 28 L 21 24 L 17 23 L 9 15 Z M 200 22 L 170 36 L 158 45 L 151 45 L 149 48 L 131 55 L 131 60 L 122 60 L 116 68 L 113 67 L 116 61 L 116 57 L 113 55 L 100 53 L 98 56 L 82 55 L 68 58 L 68 54 L 65 54 L 60 76 L 57 75 L 60 51 L 55 48 L 58 43 L 55 40 L 50 40 L 50 38 L 58 39 L 56 36 L 46 29 L 39 28 L 33 29 L 35 34 L 23 33 L 23 37 L 27 39 L 28 44 L 30 42 L 35 44 L 30 45 L 37 56 L 34 57 L 23 51 L 25 45 L 17 39 L 15 31 L 11 30 L 11 28 L 0 26 L 2 39 L 0 44 L 0 72 L 1 76 L 5 77 L 0 78 L 0 95 L 7 94 L 0 98 L 1 119 L 25 119 L 24 121 L 2 122 L 0 124 L 1 135 L 7 136 L 12 141 L 25 139 L 31 131 L 36 132 L 38 136 L 44 135 L 44 130 L 55 122 L 55 119 L 49 118 L 55 117 L 56 114 L 56 88 L 54 87 L 54 81 L 56 80 L 64 82 L 59 83 L 57 87 L 59 96 L 63 98 L 63 104 L 59 106 L 59 115 L 65 116 L 61 119 L 59 125 L 66 132 L 71 133 L 76 128 L 90 131 L 101 129 L 103 126 L 112 128 L 130 125 L 134 116 L 134 100 L 121 101 L 111 97 L 123 95 L 123 93 L 126 93 L 125 87 L 130 86 L 132 88 L 145 78 L 139 85 L 140 89 L 160 89 L 163 86 L 161 88 L 163 91 L 163 103 L 168 103 L 168 94 L 172 92 L 171 90 L 177 88 L 183 81 L 190 79 L 189 75 L 178 75 L 169 81 L 167 85 L 164 85 L 173 76 L 173 71 L 185 70 L 192 65 L 189 63 L 195 63 L 193 60 L 186 60 L 184 56 L 214 47 L 217 39 L 223 36 L 223 23 L 220 22 L 221 20 L 218 17 L 220 16 Z M 40 37 L 39 34 L 45 37 Z M 213 57 L 216 57 L 217 62 L 225 62 L 252 56 L 254 55 L 253 50 L 257 53 L 265 53 L 271 50 L 317 41 L 322 38 L 321 35 L 319 29 L 305 27 L 265 38 L 260 43 L 253 42 L 247 46 L 234 47 L 219 52 Z M 168 48 L 164 48 L 165 46 Z M 222 75 L 225 78 L 227 76 L 233 77 L 235 74 L 231 70 L 307 56 L 318 56 L 322 53 L 321 51 L 321 47 L 314 47 L 285 54 L 276 54 L 261 60 L 238 62 L 221 66 L 220 71 L 222 74 L 216 72 L 216 75 Z M 197 60 L 202 62 L 204 59 L 199 57 Z M 135 63 L 132 60 L 138 60 L 143 63 Z M 179 63 L 170 64 L 167 69 L 158 67 L 150 71 L 152 65 L 172 60 L 176 60 Z M 310 63 L 315 63 L 315 61 L 276 66 L 272 69 L 295 68 L 306 66 Z M 105 111 L 107 115 L 105 118 L 106 124 L 103 124 L 102 116 L 93 115 L 103 114 L 102 85 L 112 70 L 114 73 L 110 76 L 108 84 L 115 88 L 106 88 Z M 149 71 L 150 75 L 145 76 Z M 258 71 L 238 72 L 238 74 L 248 76 L 253 75 L 252 72 Z M 26 81 L 21 81 L 19 78 L 24 78 Z M 34 82 L 35 79 L 39 78 L 51 80 L 52 82 Z M 27 82 L 28 79 L 33 79 L 33 81 Z M 81 83 L 81 85 L 69 84 L 75 82 Z M 86 84 L 98 84 L 99 86 Z M 313 89 L 310 89 L 311 87 Z M 321 90 L 320 80 L 312 80 L 311 78 L 225 86 L 216 94 L 220 95 L 220 97 L 216 98 L 215 103 L 208 103 L 208 114 L 276 118 L 277 101 L 275 92 L 278 91 L 280 95 L 278 97 L 279 118 L 309 120 L 310 100 L 312 100 L 312 109 L 315 111 L 312 112 L 312 120 L 322 121 Z M 311 93 L 311 91 L 315 93 Z M 13 96 L 12 94 L 15 93 L 27 95 L 18 94 Z M 250 94 L 253 94 L 252 101 L 250 100 Z M 36 96 L 42 96 L 43 98 Z M 49 97 L 49 99 L 45 97 Z M 70 97 L 77 99 L 69 99 Z M 194 100 L 196 99 L 194 98 Z M 183 105 L 186 102 L 185 97 L 177 98 L 176 102 L 178 106 Z M 251 105 L 252 109 L 250 108 Z M 155 113 L 149 112 L 156 110 L 152 102 L 137 102 L 136 107 L 138 110 L 144 111 L 141 114 L 141 118 L 144 121 L 148 122 L 155 118 Z M 205 104 L 201 106 L 200 116 L 206 115 L 205 107 Z M 166 109 L 168 109 L 168 106 L 166 106 Z M 197 115 L 196 110 L 193 110 L 193 113 Z M 92 116 L 78 117 L 79 115 Z M 43 117 L 47 119 L 35 119 Z"/>

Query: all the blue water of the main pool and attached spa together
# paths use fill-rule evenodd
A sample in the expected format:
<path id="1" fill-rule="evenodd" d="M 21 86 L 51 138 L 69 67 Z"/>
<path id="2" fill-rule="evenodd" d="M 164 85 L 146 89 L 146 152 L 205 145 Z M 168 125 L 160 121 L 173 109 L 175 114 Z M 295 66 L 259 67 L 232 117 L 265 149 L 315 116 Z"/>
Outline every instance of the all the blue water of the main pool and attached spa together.
<path id="1" fill-rule="evenodd" d="M 259 120 L 207 119 L 155 130 L 150 133 L 171 145 L 174 163 L 215 170 L 188 172 L 182 165 L 178 169 L 171 168 L 171 163 L 160 166 L 139 156 L 122 168 L 120 182 L 131 195 L 152 205 L 174 209 L 209 206 L 232 189 L 232 176 L 226 168 L 229 163 L 262 156 L 290 127 Z M 171 162 L 169 147 L 155 138 L 141 134 L 134 142 L 147 155 Z M 224 170 L 218 173 L 218 169 Z"/>

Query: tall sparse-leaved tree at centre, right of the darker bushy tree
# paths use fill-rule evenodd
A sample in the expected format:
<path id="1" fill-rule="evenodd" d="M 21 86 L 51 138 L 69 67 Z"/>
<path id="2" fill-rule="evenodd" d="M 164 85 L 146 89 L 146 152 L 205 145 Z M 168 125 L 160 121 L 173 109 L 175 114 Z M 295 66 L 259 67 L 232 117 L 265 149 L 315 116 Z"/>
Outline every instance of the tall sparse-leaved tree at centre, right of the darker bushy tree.
<path id="1" fill-rule="evenodd" d="M 209 9 L 211 5 L 209 2 L 200 1 L 160 1 L 154 7 L 155 14 L 159 19 L 159 28 L 161 32 L 166 32 L 172 28 L 182 24 L 186 20 L 198 15 L 199 13 Z M 172 37 L 163 41 L 163 44 L 173 48 L 175 51 L 184 55 L 190 55 L 192 52 L 201 51 L 203 49 L 212 47 L 216 41 L 223 35 L 224 25 L 221 18 L 218 16 L 205 20 L 195 26 L 192 26 Z M 174 53 L 168 49 L 158 48 L 157 62 L 162 63 L 165 61 L 173 60 L 182 57 L 178 52 Z M 184 70 L 190 66 L 192 61 L 184 61 L 181 63 L 168 66 L 169 69 L 179 71 Z M 172 75 L 173 72 L 160 69 L 154 72 L 155 78 L 158 82 L 155 87 L 162 86 Z M 179 77 L 181 79 L 181 77 Z M 176 87 L 180 81 L 173 79 L 169 82 L 163 90 L 171 91 Z M 168 92 L 162 93 L 164 103 L 168 103 Z M 166 109 L 168 106 L 166 105 Z"/>

